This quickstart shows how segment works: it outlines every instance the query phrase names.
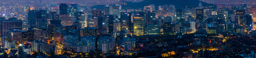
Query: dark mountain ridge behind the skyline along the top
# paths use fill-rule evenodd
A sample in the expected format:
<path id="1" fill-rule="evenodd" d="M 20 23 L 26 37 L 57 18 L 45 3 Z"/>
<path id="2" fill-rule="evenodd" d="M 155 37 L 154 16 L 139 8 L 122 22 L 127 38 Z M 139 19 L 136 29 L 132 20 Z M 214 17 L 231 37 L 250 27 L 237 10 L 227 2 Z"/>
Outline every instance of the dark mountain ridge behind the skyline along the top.
<path id="1" fill-rule="evenodd" d="M 214 6 L 212 4 L 199 1 L 199 0 L 144 0 L 138 3 L 126 1 L 127 5 L 122 5 L 122 9 L 139 9 L 144 6 L 154 4 L 156 7 L 163 5 L 175 5 L 175 8 L 195 8 L 198 7 L 198 3 L 202 3 L 202 6 Z M 99 8 L 100 7 L 100 8 Z M 99 8 L 104 10 L 104 5 L 93 6 L 92 8 Z"/>

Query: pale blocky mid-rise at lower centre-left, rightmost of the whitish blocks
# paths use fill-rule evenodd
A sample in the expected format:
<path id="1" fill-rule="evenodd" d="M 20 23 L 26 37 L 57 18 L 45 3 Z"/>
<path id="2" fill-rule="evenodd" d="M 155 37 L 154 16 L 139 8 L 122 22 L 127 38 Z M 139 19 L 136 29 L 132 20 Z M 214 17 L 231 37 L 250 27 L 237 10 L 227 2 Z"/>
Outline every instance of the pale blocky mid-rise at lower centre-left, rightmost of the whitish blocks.
<path id="1" fill-rule="evenodd" d="M 97 49 L 99 52 L 108 53 L 114 49 L 115 38 L 114 37 L 100 37 L 97 41 Z"/>

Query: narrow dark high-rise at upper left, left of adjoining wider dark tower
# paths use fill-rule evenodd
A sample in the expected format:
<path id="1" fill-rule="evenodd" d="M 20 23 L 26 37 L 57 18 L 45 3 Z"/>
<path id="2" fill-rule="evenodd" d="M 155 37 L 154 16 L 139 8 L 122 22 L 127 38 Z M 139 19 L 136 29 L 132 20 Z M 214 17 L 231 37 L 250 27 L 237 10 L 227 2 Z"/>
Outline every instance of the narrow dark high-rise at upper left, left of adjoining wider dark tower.
<path id="1" fill-rule="evenodd" d="M 28 12 L 28 26 L 36 26 L 36 10 Z"/>

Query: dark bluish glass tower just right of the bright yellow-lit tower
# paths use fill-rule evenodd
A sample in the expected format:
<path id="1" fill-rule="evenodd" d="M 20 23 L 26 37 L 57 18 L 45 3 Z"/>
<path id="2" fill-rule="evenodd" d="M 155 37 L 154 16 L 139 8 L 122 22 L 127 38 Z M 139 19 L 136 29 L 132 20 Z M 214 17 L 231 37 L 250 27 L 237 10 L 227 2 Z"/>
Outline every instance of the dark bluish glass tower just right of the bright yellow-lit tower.
<path id="1" fill-rule="evenodd" d="M 153 20 L 155 20 L 155 11 L 148 11 L 145 20 L 146 24 L 150 24 L 150 22 L 152 22 Z"/>

